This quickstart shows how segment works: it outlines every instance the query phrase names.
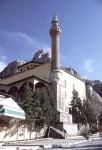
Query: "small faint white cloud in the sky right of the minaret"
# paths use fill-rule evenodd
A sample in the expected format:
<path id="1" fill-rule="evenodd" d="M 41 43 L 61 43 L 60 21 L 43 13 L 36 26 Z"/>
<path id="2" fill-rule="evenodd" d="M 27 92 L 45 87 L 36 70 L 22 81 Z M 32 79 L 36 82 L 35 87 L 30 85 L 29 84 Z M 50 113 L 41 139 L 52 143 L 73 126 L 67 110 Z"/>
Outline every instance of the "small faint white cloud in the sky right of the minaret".
<path id="1" fill-rule="evenodd" d="M 94 63 L 95 60 L 94 59 L 88 59 L 84 62 L 84 70 L 87 73 L 92 73 L 94 71 Z"/>

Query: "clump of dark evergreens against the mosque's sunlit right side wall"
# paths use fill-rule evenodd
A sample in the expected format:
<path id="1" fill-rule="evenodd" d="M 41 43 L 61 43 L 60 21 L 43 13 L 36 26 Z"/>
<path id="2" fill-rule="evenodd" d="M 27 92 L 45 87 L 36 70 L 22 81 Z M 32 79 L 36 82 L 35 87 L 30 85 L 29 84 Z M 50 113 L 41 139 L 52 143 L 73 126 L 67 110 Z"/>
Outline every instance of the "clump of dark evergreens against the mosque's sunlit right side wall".
<path id="1" fill-rule="evenodd" d="M 92 130 L 94 125 L 97 123 L 97 119 L 96 119 L 97 117 L 94 108 L 92 107 L 93 105 L 91 101 L 87 98 L 82 102 L 78 96 L 78 92 L 73 90 L 71 106 L 72 106 L 73 123 L 77 123 L 78 127 L 80 123 L 85 125 L 89 123 L 90 129 Z M 101 115 L 100 115 L 100 120 L 101 120 Z"/>

